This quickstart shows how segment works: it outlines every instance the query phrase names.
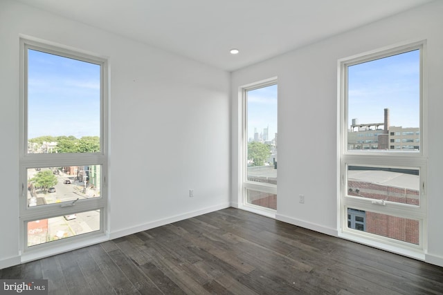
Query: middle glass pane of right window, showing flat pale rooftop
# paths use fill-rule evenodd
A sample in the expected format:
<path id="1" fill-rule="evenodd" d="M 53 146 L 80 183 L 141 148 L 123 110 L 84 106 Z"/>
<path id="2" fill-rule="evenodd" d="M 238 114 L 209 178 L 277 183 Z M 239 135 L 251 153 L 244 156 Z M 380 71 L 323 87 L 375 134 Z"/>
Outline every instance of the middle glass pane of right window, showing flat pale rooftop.
<path id="1" fill-rule="evenodd" d="M 347 167 L 347 195 L 420 204 L 419 170 L 388 167 Z"/>

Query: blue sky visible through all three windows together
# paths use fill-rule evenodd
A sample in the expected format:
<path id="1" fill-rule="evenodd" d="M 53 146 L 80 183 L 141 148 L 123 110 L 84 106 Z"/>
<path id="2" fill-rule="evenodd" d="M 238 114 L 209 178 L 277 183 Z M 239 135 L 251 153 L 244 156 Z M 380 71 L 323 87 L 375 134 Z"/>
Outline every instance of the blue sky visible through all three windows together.
<path id="1" fill-rule="evenodd" d="M 348 68 L 348 126 L 419 126 L 419 50 Z M 277 85 L 248 91 L 248 138 L 277 130 Z M 28 50 L 28 138 L 100 135 L 100 66 Z"/>

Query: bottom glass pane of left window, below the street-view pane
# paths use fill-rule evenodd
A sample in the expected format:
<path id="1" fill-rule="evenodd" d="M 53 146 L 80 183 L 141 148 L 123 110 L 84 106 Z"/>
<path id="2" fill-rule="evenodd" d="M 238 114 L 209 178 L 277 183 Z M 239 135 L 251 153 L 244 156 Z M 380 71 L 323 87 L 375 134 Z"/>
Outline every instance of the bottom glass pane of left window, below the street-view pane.
<path id="1" fill-rule="evenodd" d="M 100 230 L 100 210 L 30 221 L 28 247 Z"/>

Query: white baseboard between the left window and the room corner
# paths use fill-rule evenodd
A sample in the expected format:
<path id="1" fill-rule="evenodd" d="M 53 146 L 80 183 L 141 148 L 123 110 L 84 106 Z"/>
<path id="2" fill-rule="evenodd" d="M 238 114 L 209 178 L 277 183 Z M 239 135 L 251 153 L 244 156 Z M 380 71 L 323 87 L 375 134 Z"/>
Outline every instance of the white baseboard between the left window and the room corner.
<path id="1" fill-rule="evenodd" d="M 135 234 L 138 233 L 140 231 L 146 231 L 148 229 L 153 229 L 154 227 L 161 227 L 163 225 L 169 225 L 172 222 L 177 222 L 180 220 L 184 220 L 187 218 L 192 218 L 195 216 L 199 216 L 202 214 L 206 214 L 206 213 L 210 213 L 213 211 L 217 211 L 217 210 L 221 210 L 221 209 L 226 209 L 230 207 L 230 203 L 226 202 L 223 204 L 218 204 L 216 206 L 213 207 L 207 207 L 204 209 L 199 209 L 197 211 L 191 211 L 188 213 L 184 213 L 184 214 L 180 214 L 180 215 L 176 215 L 176 216 L 172 216 L 172 217 L 168 217 L 168 218 L 163 218 L 163 219 L 159 219 L 159 220 L 154 220 L 151 222 L 147 222 L 144 223 L 143 225 L 136 225 L 135 227 L 128 227 L 126 229 L 120 229 L 118 231 L 113 231 L 109 234 L 109 238 L 111 240 L 114 240 L 114 238 L 120 238 L 123 236 L 128 236 L 131 234 Z"/>

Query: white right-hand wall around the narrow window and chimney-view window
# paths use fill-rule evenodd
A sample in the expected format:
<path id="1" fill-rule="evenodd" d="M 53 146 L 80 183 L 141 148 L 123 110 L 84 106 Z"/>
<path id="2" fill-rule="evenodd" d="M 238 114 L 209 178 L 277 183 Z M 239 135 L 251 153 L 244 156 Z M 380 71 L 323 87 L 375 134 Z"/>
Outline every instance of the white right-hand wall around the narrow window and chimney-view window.
<path id="1" fill-rule="evenodd" d="M 443 1 L 372 23 L 237 70 L 231 79 L 232 198 L 239 200 L 238 87 L 278 76 L 277 218 L 337 234 L 337 61 L 404 41 L 427 39 L 428 249 L 426 261 L 443 266 Z M 339 16 L 338 16 L 339 17 Z M 288 36 L 291 38 L 291 36 Z M 298 195 L 305 195 L 305 204 Z"/>

